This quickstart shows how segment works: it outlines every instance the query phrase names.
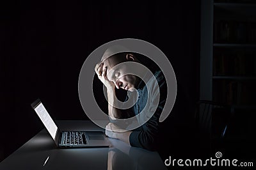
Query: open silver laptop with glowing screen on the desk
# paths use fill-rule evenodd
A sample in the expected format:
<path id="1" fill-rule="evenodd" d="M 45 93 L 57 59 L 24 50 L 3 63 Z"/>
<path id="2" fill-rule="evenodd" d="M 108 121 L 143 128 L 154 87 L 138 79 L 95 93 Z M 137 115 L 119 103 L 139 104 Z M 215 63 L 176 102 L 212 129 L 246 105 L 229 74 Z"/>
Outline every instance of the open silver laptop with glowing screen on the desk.
<path id="1" fill-rule="evenodd" d="M 35 110 L 40 120 L 44 123 L 56 145 L 60 148 L 93 148 L 109 147 L 109 141 L 102 131 L 60 131 L 52 120 L 40 99 L 31 107 Z"/>

